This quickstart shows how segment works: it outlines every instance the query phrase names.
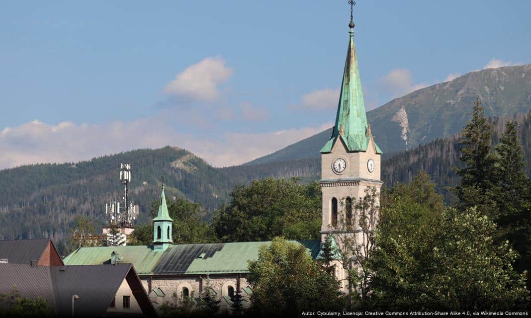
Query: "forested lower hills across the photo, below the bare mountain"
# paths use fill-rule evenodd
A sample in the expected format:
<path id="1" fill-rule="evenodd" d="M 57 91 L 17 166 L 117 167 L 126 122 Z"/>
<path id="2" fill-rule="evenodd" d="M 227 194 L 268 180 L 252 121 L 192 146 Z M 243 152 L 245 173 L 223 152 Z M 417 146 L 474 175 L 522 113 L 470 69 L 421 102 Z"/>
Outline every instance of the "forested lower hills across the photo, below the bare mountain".
<path id="1" fill-rule="evenodd" d="M 507 118 L 493 119 L 494 142 Z M 524 145 L 527 172 L 531 173 L 531 115 L 516 116 L 520 140 Z M 459 164 L 457 135 L 438 139 L 416 149 L 382 161 L 386 186 L 409 182 L 419 171 L 426 171 L 447 202 L 445 189 L 457 183 L 451 167 Z M 268 162 L 213 168 L 183 149 L 165 147 L 135 150 L 95 158 L 78 164 L 32 165 L 0 171 L 0 238 L 52 237 L 61 240 L 76 214 L 96 218 L 111 197 L 123 195 L 119 183 L 119 164 L 133 167 L 132 196 L 140 207 L 140 222 L 148 220 L 150 205 L 156 200 L 160 183 L 166 184 L 168 197 L 180 196 L 199 202 L 207 209 L 230 200 L 229 192 L 239 184 L 265 177 L 301 177 L 303 182 L 319 179 L 318 158 Z M 100 217 L 97 222 L 103 222 Z"/>

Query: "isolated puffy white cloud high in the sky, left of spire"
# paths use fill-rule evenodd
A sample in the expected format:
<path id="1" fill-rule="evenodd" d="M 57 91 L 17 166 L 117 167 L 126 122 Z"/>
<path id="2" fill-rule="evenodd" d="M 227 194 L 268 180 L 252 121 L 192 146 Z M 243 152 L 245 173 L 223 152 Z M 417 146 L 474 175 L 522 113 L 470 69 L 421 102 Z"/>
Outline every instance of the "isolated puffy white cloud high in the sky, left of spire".
<path id="1" fill-rule="evenodd" d="M 164 88 L 164 92 L 178 98 L 194 101 L 215 101 L 219 97 L 219 85 L 233 74 L 219 56 L 207 57 L 190 65 L 175 76 L 175 80 Z"/>

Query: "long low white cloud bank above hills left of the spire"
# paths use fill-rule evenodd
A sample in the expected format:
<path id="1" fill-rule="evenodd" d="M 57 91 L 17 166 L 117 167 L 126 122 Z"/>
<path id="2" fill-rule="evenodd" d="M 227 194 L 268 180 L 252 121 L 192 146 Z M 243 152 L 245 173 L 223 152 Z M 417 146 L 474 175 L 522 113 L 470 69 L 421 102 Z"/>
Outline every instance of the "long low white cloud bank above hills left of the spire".
<path id="1" fill-rule="evenodd" d="M 174 145 L 213 166 L 232 166 L 277 151 L 330 128 L 293 128 L 264 133 L 225 133 L 200 137 L 173 131 L 172 122 L 152 117 L 134 122 L 49 125 L 33 121 L 0 134 L 0 169 L 44 162 L 75 162 L 139 148 Z M 318 150 L 316 150 L 318 151 Z"/>

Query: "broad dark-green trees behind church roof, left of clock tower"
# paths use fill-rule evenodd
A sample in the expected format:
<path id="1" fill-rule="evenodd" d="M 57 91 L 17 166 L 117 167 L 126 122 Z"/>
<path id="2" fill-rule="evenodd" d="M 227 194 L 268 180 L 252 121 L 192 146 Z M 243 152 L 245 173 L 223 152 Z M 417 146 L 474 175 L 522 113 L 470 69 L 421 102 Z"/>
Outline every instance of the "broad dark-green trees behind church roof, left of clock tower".
<path id="1" fill-rule="evenodd" d="M 222 242 L 319 239 L 321 190 L 319 184 L 303 185 L 296 178 L 265 178 L 236 186 L 232 201 L 213 218 Z"/>

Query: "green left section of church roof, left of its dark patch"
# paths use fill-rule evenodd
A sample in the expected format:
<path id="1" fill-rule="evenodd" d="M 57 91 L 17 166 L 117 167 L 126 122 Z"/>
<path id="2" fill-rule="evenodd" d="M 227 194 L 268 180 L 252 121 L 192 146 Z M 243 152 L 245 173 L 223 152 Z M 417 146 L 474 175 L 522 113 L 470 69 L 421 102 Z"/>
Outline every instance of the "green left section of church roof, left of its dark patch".
<path id="1" fill-rule="evenodd" d="M 102 246 L 80 247 L 68 255 L 65 265 L 110 264 L 110 254 L 116 252 L 123 257 L 120 263 L 133 264 L 139 275 L 148 274 L 155 267 L 163 253 L 153 252 L 150 246 Z"/>

